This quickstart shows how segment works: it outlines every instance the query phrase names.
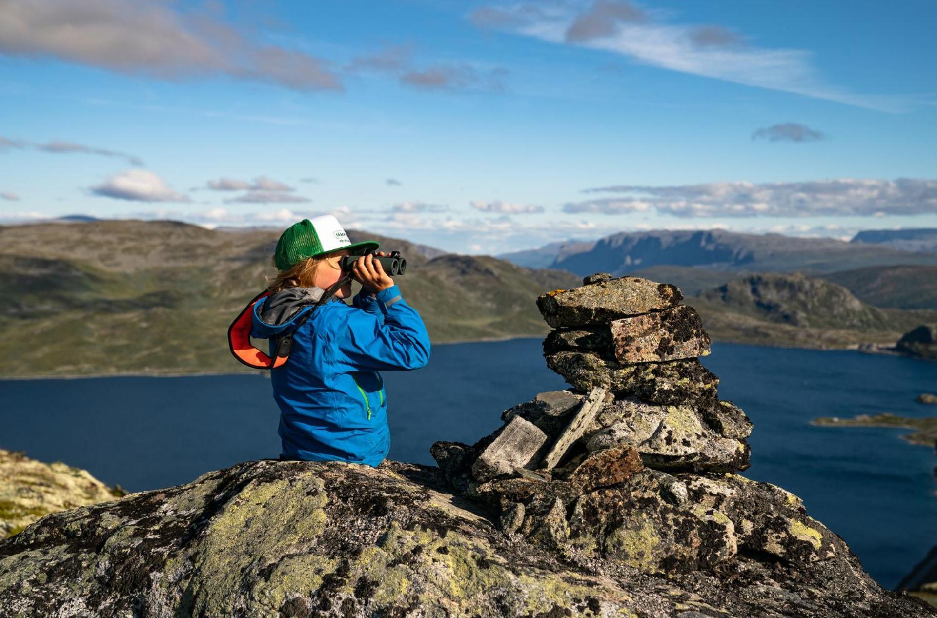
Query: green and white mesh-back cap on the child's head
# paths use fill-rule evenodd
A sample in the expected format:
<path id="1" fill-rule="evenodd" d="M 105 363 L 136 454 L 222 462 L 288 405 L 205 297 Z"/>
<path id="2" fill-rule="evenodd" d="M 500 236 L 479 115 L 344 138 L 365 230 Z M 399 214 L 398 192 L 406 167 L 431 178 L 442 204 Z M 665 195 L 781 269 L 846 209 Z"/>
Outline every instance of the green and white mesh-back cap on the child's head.
<path id="1" fill-rule="evenodd" d="M 294 264 L 324 253 L 350 249 L 351 254 L 364 249 L 378 249 L 377 240 L 352 243 L 345 229 L 332 215 L 303 219 L 287 228 L 276 242 L 274 261 L 279 270 L 289 270 Z"/>

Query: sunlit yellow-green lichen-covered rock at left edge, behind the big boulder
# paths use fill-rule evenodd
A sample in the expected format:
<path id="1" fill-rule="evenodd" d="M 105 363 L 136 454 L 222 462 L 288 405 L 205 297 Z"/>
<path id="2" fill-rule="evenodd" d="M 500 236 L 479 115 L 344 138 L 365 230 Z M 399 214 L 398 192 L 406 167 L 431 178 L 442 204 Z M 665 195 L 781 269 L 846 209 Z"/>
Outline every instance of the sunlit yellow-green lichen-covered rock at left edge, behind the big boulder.
<path id="1" fill-rule="evenodd" d="M 87 470 L 62 461 L 33 460 L 20 451 L 0 448 L 0 538 L 18 534 L 44 515 L 125 494 Z"/>

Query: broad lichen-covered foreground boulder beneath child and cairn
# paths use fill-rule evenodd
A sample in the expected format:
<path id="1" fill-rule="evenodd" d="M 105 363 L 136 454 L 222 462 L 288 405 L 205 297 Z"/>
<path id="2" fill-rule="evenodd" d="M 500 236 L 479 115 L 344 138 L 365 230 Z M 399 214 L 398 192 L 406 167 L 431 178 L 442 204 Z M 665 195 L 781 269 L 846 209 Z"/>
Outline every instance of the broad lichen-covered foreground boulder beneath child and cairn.
<path id="1" fill-rule="evenodd" d="M 714 476 L 680 506 L 661 498 L 667 478 L 646 469 L 586 492 L 516 487 L 508 513 L 453 495 L 435 467 L 248 461 L 54 513 L 0 541 L 0 615 L 934 615 L 883 590 L 775 490 L 752 484 L 709 505 L 749 483 Z M 494 523 L 512 518 L 515 532 Z M 757 535 L 760 522 L 769 534 Z"/>

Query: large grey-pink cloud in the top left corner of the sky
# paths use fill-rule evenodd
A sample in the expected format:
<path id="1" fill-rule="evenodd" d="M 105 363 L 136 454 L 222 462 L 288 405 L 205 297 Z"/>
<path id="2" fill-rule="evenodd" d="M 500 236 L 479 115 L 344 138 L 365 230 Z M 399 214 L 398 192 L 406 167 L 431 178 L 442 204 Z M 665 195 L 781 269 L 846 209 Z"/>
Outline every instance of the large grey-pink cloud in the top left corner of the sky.
<path id="1" fill-rule="evenodd" d="M 341 90 L 328 63 L 245 37 L 224 6 L 183 11 L 139 0 L 0 0 L 0 53 L 174 80 L 227 75 L 296 90 Z"/>

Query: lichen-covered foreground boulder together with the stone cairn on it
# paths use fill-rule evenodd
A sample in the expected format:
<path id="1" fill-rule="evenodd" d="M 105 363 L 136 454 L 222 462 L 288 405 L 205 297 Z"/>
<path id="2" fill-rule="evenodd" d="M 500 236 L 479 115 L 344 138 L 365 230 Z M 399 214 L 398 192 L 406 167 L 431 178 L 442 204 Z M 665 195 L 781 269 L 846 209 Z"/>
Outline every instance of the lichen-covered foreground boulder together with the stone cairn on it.
<path id="1" fill-rule="evenodd" d="M 0 615 L 937 615 L 738 474 L 751 422 L 681 299 L 601 273 L 540 296 L 572 387 L 438 467 L 248 461 L 38 520 L 0 542 Z"/>

